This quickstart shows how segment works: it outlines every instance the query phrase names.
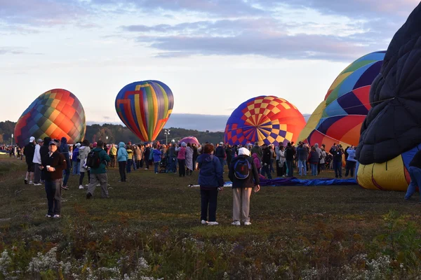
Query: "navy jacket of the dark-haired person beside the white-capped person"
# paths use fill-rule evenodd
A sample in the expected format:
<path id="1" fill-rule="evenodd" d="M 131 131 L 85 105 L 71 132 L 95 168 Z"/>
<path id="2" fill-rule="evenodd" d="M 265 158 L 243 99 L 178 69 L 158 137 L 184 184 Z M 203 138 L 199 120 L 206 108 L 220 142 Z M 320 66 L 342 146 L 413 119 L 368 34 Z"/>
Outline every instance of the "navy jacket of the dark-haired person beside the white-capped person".
<path id="1" fill-rule="evenodd" d="M 199 186 L 205 188 L 218 188 L 224 186 L 223 169 L 220 160 L 207 153 L 199 155 Z"/>

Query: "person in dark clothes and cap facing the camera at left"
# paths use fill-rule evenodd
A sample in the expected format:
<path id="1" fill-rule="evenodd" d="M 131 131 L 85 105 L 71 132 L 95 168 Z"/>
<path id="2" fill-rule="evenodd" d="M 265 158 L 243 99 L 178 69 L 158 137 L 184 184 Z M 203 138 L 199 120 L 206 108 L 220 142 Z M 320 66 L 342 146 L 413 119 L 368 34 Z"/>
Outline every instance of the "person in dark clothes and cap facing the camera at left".
<path id="1" fill-rule="evenodd" d="M 58 152 L 57 142 L 50 141 L 48 154 L 41 156 L 39 169 L 45 171 L 45 187 L 47 194 L 48 218 L 60 218 L 61 215 L 61 187 L 63 170 L 67 169 L 67 161 L 62 153 Z"/>

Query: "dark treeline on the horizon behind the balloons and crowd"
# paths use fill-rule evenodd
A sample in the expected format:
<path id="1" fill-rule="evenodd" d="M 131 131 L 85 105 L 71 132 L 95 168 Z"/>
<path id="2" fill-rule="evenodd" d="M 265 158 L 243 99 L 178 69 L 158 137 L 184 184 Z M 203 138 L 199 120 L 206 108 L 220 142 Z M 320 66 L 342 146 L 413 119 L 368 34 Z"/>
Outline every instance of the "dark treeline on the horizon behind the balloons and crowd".
<path id="1" fill-rule="evenodd" d="M 15 130 L 15 125 L 16 123 L 8 120 L 6 120 L 6 122 L 0 122 L 0 144 L 11 144 L 11 135 Z M 219 143 L 224 139 L 223 132 L 199 132 L 199 130 L 185 130 L 183 128 L 175 127 L 171 127 L 169 130 L 170 134 L 168 135 L 168 141 L 171 141 L 172 139 L 178 141 L 183 137 L 188 136 L 196 137 L 201 143 Z M 127 143 L 128 141 L 140 143 L 140 139 L 127 127 L 107 123 L 104 125 L 88 125 L 86 127 L 85 138 L 91 142 L 102 140 L 107 143 L 119 143 L 120 141 L 123 141 L 124 143 Z M 166 141 L 166 135 L 163 130 L 159 133 L 156 140 L 161 141 L 161 143 Z M 15 143 L 14 140 L 13 143 Z"/>

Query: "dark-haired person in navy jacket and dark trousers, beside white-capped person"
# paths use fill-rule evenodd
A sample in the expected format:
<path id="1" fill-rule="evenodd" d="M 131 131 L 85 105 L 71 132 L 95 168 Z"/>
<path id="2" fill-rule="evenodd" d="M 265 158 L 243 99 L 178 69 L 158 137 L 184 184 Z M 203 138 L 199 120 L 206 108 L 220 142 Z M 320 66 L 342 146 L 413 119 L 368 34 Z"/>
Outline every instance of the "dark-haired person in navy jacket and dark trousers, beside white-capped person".
<path id="1" fill-rule="evenodd" d="M 201 196 L 201 223 L 203 225 L 218 225 L 216 208 L 218 190 L 224 186 L 223 169 L 220 160 L 212 155 L 213 145 L 206 144 L 203 154 L 197 158 L 199 164 L 199 186 Z M 209 219 L 208 219 L 209 209 Z"/>

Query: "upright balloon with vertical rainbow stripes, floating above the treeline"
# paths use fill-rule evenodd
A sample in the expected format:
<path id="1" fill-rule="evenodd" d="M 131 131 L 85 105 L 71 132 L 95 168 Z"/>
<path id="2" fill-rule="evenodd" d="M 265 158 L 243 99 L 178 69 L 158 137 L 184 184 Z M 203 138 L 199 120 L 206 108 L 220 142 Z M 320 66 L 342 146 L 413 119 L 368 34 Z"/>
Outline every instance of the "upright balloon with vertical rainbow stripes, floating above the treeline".
<path id="1" fill-rule="evenodd" d="M 131 83 L 116 97 L 121 121 L 142 141 L 154 141 L 173 111 L 170 88 L 158 80 Z"/>

